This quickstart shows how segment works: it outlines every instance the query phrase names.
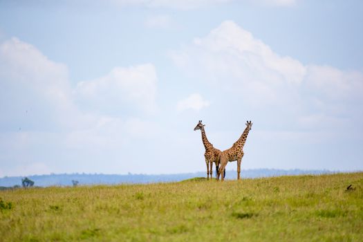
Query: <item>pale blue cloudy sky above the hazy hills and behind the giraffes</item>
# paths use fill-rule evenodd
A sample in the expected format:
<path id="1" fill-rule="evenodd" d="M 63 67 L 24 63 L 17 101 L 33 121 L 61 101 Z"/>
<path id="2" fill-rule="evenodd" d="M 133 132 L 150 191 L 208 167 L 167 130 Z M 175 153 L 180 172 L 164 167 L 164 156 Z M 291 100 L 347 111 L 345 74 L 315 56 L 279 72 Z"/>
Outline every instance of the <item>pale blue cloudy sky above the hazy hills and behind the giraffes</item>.
<path id="1" fill-rule="evenodd" d="M 0 1 L 0 177 L 363 169 L 363 1 Z M 236 162 L 227 165 L 236 169 Z"/>

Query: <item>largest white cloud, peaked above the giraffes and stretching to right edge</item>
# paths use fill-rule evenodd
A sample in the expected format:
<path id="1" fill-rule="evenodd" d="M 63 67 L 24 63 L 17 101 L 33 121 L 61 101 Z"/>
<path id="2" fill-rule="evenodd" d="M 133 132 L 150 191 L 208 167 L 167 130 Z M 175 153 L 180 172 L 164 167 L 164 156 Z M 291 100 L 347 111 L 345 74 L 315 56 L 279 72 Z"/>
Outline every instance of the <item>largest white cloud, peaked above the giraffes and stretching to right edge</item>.
<path id="1" fill-rule="evenodd" d="M 233 21 L 170 56 L 188 75 L 218 89 L 218 96 L 238 97 L 239 105 L 266 113 L 285 113 L 286 120 L 301 127 L 319 120 L 337 127 L 346 121 L 343 116 L 352 121 L 363 103 L 362 73 L 280 56 Z"/>

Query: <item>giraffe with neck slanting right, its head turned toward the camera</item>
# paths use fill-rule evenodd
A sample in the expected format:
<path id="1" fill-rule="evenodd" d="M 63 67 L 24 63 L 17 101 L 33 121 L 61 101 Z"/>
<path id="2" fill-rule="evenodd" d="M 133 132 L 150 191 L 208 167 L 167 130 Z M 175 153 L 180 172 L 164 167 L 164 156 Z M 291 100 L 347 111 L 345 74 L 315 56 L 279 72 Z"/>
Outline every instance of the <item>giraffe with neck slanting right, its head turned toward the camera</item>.
<path id="1" fill-rule="evenodd" d="M 247 127 L 245 127 L 245 131 L 243 131 L 241 137 L 239 138 L 239 140 L 237 140 L 236 142 L 234 142 L 234 144 L 232 145 L 232 147 L 230 147 L 230 149 L 226 149 L 225 151 L 223 151 L 221 153 L 221 167 L 219 167 L 219 170 L 217 172 L 217 180 L 219 180 L 219 176 L 221 174 L 221 171 L 225 171 L 225 166 L 227 165 L 228 161 L 234 161 L 237 160 L 237 179 L 239 180 L 240 176 L 239 174 L 241 173 L 241 161 L 243 158 L 243 146 L 245 145 L 245 140 L 247 139 L 248 136 L 248 132 L 250 132 L 251 128 L 252 128 L 252 122 L 246 122 L 245 125 Z M 224 177 L 222 176 L 221 180 L 224 180 Z"/>

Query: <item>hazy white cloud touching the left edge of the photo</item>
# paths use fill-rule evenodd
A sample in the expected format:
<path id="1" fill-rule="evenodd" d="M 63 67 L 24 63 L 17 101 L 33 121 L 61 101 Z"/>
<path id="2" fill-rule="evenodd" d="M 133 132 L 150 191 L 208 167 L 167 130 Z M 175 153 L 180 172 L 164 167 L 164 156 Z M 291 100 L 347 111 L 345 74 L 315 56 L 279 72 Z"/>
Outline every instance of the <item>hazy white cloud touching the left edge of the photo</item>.
<path id="1" fill-rule="evenodd" d="M 12 38 L 0 44 L 0 79 L 0 122 L 9 123 L 17 116 L 15 120 L 27 119 L 32 127 L 41 126 L 32 118 L 71 125 L 64 113 L 74 113 L 75 106 L 64 64 L 52 62 L 34 46 Z"/>

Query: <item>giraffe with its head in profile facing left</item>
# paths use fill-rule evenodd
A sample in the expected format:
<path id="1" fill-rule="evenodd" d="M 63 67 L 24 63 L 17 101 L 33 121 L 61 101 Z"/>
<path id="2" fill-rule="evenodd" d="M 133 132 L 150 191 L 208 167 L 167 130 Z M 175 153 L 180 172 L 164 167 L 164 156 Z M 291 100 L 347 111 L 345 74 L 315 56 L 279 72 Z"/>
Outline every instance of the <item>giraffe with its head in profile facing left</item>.
<path id="1" fill-rule="evenodd" d="M 207 165 L 207 179 L 212 178 L 213 162 L 216 163 L 216 171 L 218 171 L 218 166 L 221 158 L 221 151 L 213 147 L 213 145 L 208 141 L 204 130 L 205 125 L 202 124 L 202 120 L 199 120 L 198 124 L 194 128 L 194 131 L 201 129 L 202 142 L 205 147 L 205 164 Z"/>

